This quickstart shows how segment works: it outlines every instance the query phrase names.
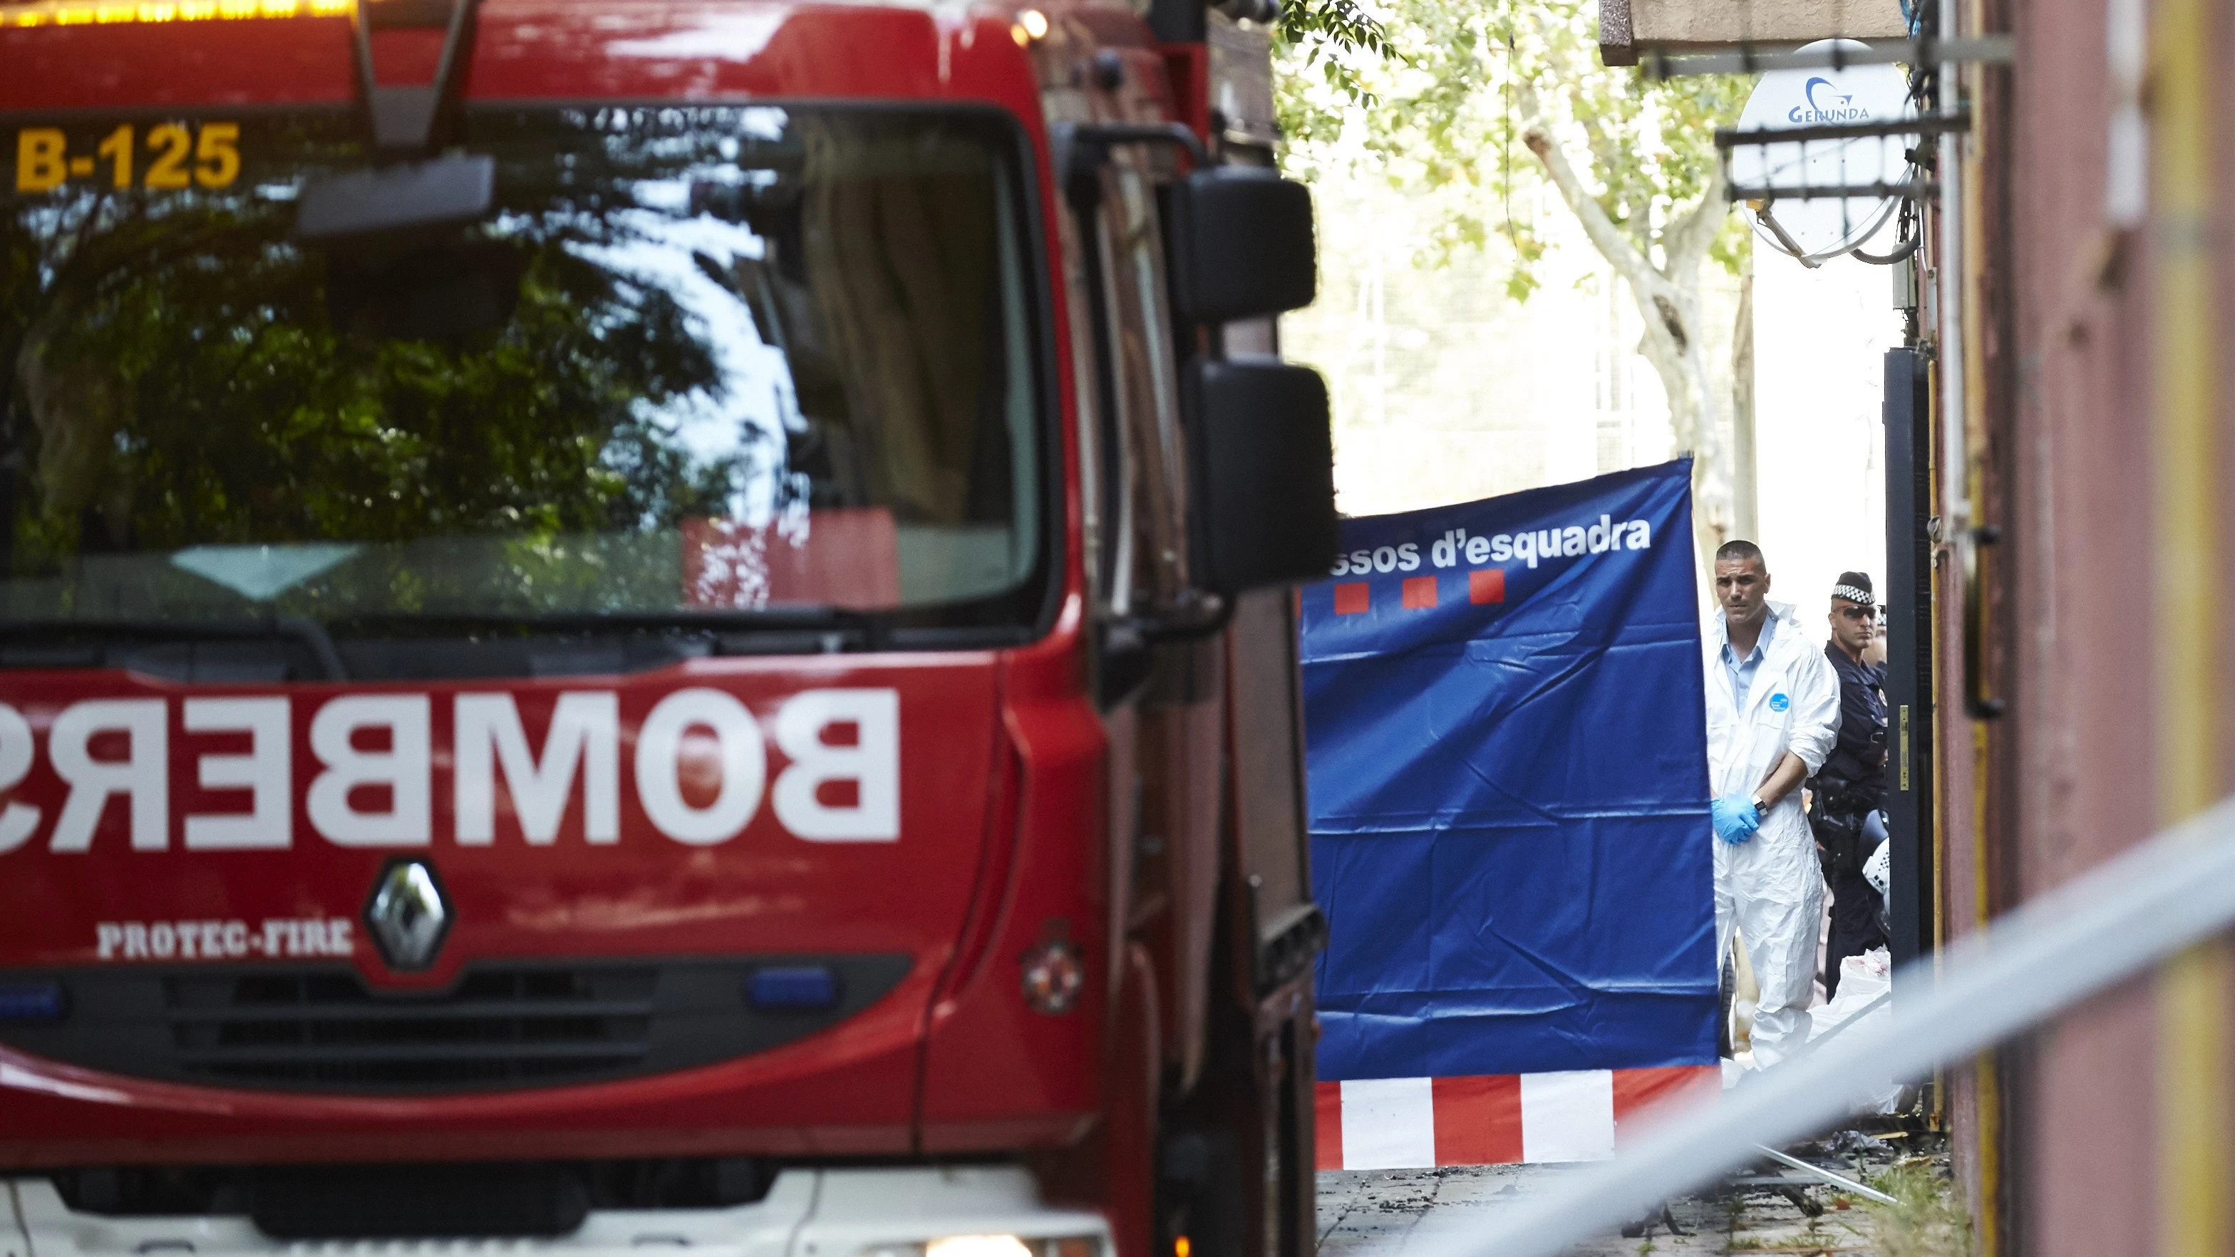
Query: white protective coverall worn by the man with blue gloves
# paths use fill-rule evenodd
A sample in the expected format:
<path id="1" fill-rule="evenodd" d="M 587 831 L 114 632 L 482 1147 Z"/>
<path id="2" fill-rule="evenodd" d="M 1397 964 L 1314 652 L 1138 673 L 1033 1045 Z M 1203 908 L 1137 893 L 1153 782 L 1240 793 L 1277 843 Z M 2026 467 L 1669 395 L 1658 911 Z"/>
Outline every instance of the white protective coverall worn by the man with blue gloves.
<path id="1" fill-rule="evenodd" d="M 1808 776 L 1824 767 L 1839 738 L 1839 673 L 1824 646 L 1808 637 L 1792 606 L 1772 602 L 1777 628 L 1739 711 L 1723 667 L 1723 613 L 1708 626 L 1708 785 L 1714 798 L 1750 796 L 1792 752 Z M 1761 1006 L 1754 1009 L 1754 1065 L 1770 1067 L 1808 1042 L 1808 1002 L 1815 991 L 1815 951 L 1824 915 L 1824 875 L 1817 872 L 1815 834 L 1795 785 L 1761 816 L 1743 843 L 1714 845 L 1714 955 L 1730 955 L 1730 928 L 1746 935 Z"/>

